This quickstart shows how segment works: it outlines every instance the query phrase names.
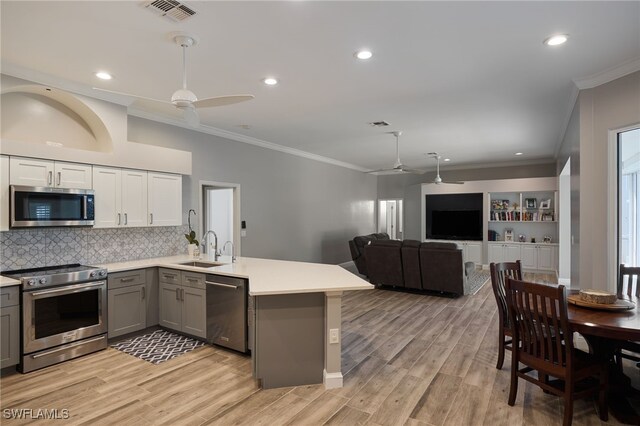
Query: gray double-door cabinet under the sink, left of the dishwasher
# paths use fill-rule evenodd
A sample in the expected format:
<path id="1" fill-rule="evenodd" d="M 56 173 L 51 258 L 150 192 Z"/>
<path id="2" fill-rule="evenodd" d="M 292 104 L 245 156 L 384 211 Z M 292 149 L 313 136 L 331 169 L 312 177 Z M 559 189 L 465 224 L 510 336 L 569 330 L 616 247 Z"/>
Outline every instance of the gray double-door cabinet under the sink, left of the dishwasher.
<path id="1" fill-rule="evenodd" d="M 204 274 L 160 268 L 159 281 L 159 324 L 205 339 L 207 293 Z"/>

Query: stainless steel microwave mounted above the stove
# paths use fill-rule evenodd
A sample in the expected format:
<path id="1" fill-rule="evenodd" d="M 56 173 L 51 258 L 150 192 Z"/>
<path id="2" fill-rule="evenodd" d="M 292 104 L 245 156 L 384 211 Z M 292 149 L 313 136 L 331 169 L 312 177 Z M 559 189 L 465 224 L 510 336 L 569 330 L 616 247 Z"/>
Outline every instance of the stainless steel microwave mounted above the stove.
<path id="1" fill-rule="evenodd" d="M 12 228 L 93 226 L 94 191 L 11 185 Z"/>

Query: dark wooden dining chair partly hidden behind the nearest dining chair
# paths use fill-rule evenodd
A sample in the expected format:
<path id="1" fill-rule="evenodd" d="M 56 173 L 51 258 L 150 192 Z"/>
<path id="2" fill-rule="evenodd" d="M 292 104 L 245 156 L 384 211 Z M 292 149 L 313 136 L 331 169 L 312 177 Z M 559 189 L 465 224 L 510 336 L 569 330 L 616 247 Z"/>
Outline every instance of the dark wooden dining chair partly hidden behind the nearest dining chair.
<path id="1" fill-rule="evenodd" d="M 500 370 L 504 363 L 504 351 L 511 350 L 511 326 L 509 325 L 509 315 L 507 314 L 507 300 L 505 299 L 504 281 L 506 277 L 516 280 L 522 279 L 522 264 L 519 260 L 515 262 L 491 263 L 491 287 L 493 295 L 498 304 L 498 363 L 496 368 Z"/>

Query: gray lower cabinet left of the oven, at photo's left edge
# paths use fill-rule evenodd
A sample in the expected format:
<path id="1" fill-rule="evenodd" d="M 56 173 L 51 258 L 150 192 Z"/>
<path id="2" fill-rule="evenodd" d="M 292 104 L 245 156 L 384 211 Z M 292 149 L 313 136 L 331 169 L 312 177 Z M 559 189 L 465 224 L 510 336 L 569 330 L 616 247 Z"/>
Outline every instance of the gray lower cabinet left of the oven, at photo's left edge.
<path id="1" fill-rule="evenodd" d="M 20 288 L 0 289 L 0 368 L 20 362 Z"/>

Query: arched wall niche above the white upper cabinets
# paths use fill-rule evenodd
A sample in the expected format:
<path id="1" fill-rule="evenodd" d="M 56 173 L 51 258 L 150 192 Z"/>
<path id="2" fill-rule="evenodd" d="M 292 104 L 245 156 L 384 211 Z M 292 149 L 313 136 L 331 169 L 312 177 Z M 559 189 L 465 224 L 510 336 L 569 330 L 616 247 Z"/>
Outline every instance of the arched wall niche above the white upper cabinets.
<path id="1" fill-rule="evenodd" d="M 74 95 L 40 85 L 20 85 L 0 92 L 3 140 L 113 152 L 102 119 Z"/>

